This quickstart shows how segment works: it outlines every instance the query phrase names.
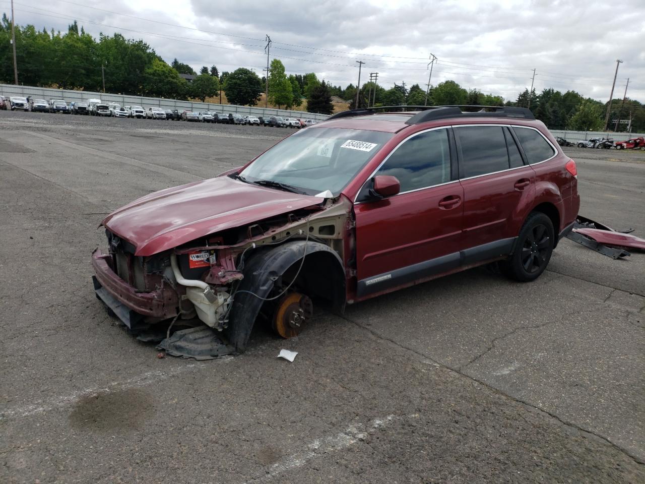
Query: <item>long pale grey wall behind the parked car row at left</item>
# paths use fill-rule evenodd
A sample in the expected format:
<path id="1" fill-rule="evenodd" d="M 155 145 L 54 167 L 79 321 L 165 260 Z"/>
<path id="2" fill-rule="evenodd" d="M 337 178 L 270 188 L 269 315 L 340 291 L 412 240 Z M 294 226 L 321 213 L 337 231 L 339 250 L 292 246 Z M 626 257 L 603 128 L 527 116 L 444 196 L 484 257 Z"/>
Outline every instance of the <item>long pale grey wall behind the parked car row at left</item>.
<path id="1" fill-rule="evenodd" d="M 301 119 L 317 119 L 322 121 L 328 116 L 326 114 L 314 114 L 304 111 L 293 111 L 286 109 L 269 109 L 259 106 L 237 106 L 228 104 L 192 103 L 191 101 L 179 101 L 177 99 L 163 99 L 159 97 L 124 96 L 122 94 L 104 94 L 102 92 L 72 91 L 64 89 L 50 89 L 33 86 L 16 86 L 13 84 L 0 84 L 0 96 L 32 96 L 35 99 L 64 99 L 68 103 L 72 101 L 85 101 L 86 99 L 101 99 L 106 103 L 118 103 L 121 106 L 143 106 L 148 109 L 151 106 L 160 108 L 177 109 L 180 112 L 184 109 L 191 111 L 217 111 L 228 113 L 239 113 L 242 116 L 282 116 L 299 117 Z"/>

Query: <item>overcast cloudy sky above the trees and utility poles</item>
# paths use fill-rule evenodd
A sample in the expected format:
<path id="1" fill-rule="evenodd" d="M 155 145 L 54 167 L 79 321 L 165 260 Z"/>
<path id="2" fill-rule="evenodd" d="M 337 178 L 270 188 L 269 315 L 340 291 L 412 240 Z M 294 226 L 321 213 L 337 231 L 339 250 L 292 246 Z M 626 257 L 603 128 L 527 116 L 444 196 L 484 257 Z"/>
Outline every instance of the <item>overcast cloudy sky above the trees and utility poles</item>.
<path id="1" fill-rule="evenodd" d="M 584 5 L 584 6 L 583 6 Z M 168 63 L 177 57 L 195 70 L 266 67 L 287 74 L 315 72 L 333 85 L 356 85 L 370 72 L 390 88 L 446 79 L 515 99 L 531 85 L 607 101 L 620 64 L 614 99 L 645 103 L 645 9 L 642 0 L 404 1 L 404 0 L 15 0 L 16 23 L 66 30 L 77 19 L 86 32 L 143 39 Z M 101 10 L 103 9 L 103 10 Z M 9 0 L 0 0 L 9 12 Z M 109 10 L 109 12 L 107 11 Z M 90 23 L 92 22 L 92 23 Z"/>

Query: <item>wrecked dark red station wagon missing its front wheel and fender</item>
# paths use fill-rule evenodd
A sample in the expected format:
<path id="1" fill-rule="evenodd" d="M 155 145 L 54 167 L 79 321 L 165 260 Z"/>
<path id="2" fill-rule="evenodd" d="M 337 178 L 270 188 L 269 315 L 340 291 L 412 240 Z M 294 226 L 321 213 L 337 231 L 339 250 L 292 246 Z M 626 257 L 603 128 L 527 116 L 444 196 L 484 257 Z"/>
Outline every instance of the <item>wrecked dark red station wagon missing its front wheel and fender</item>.
<path id="1" fill-rule="evenodd" d="M 241 352 L 256 321 L 298 334 L 314 301 L 494 262 L 533 281 L 578 214 L 575 162 L 529 110 L 472 107 L 341 112 L 141 197 L 103 220 L 97 297 L 135 334 L 199 320 Z"/>

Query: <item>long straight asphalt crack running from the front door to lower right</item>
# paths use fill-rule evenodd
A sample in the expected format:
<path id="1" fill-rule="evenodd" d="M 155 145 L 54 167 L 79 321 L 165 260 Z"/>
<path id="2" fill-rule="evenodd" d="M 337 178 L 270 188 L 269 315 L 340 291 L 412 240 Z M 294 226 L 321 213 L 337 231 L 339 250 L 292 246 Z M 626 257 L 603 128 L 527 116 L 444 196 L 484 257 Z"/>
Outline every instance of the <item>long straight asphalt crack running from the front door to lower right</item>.
<path id="1" fill-rule="evenodd" d="M 571 314 L 577 314 L 577 312 L 571 313 Z M 502 390 L 499 390 L 499 388 L 495 388 L 495 387 L 489 385 L 488 383 L 486 383 L 485 381 L 483 381 L 483 380 L 481 380 L 479 378 L 476 378 L 474 376 L 471 376 L 469 374 L 466 374 L 466 373 L 462 372 L 461 367 L 455 368 L 455 367 L 451 367 L 450 365 L 446 365 L 445 363 L 442 363 L 441 361 L 439 361 L 437 359 L 434 359 L 432 356 L 424 354 L 424 353 L 422 353 L 422 352 L 420 352 L 418 350 L 415 350 L 414 348 L 408 347 L 406 345 L 402 345 L 398 341 L 394 341 L 393 339 L 388 338 L 387 336 L 383 336 L 382 334 L 380 334 L 379 332 L 373 330 L 372 328 L 366 327 L 366 326 L 362 325 L 361 323 L 359 323 L 358 321 L 353 321 L 353 319 L 348 318 L 344 314 L 339 315 L 339 316 L 342 319 L 344 319 L 345 321 L 347 321 L 348 323 L 352 323 L 353 325 L 356 325 L 357 327 L 366 330 L 368 333 L 372 334 L 372 336 L 374 336 L 375 338 L 381 339 L 383 341 L 388 341 L 388 343 L 392 343 L 396 347 L 402 348 L 404 350 L 408 350 L 409 352 L 412 352 L 413 354 L 415 354 L 417 356 L 421 356 L 421 358 L 430 359 L 430 361 L 433 361 L 433 363 L 435 363 L 435 365 L 438 365 L 438 366 L 440 366 L 442 368 L 446 368 L 446 369 L 448 369 L 448 370 L 450 370 L 452 372 L 455 372 L 456 374 L 459 374 L 460 376 L 462 376 L 464 378 L 468 378 L 468 379 L 470 379 L 472 381 L 475 381 L 476 383 L 479 383 L 479 385 L 482 385 L 483 387 L 488 388 L 489 390 L 491 390 L 495 394 L 502 395 L 502 396 L 504 396 L 504 397 L 506 397 L 508 399 L 511 399 L 512 401 L 515 401 L 516 403 L 520 403 L 521 405 L 526 405 L 526 407 L 533 408 L 534 410 L 537 410 L 538 412 L 541 412 L 542 414 L 550 416 L 551 418 L 559 421 L 559 423 L 561 423 L 562 425 L 565 425 L 566 427 L 571 427 L 572 429 L 579 430 L 579 432 L 582 432 L 584 434 L 589 434 L 591 436 L 595 436 L 596 438 L 601 439 L 602 441 L 604 441 L 604 442 L 608 443 L 609 445 L 611 445 L 611 447 L 613 447 L 614 449 L 619 450 L 619 452 L 621 454 L 624 454 L 625 456 L 627 456 L 628 458 L 633 460 L 635 463 L 640 464 L 640 465 L 645 465 L 645 460 L 640 459 L 638 456 L 632 455 L 628 450 L 623 449 L 622 447 L 620 447 L 620 445 L 612 442 L 610 439 L 606 438 L 605 436 L 602 436 L 600 434 L 597 434 L 596 432 L 593 432 L 593 430 L 584 429 L 583 427 L 581 427 L 580 425 L 577 425 L 576 423 L 573 423 L 573 422 L 566 421 L 566 420 L 562 419 L 561 417 L 557 416 L 556 414 L 553 414 L 549 410 L 544 410 L 544 408 L 537 407 L 537 406 L 533 405 L 532 403 L 529 403 L 528 401 L 522 400 L 521 398 L 517 398 L 517 397 L 512 396 L 510 394 L 504 393 L 504 392 L 502 392 Z M 559 321 L 561 321 L 561 320 L 559 320 Z M 539 326 L 546 326 L 548 324 L 551 324 L 551 323 L 544 323 L 543 325 L 539 325 Z"/>

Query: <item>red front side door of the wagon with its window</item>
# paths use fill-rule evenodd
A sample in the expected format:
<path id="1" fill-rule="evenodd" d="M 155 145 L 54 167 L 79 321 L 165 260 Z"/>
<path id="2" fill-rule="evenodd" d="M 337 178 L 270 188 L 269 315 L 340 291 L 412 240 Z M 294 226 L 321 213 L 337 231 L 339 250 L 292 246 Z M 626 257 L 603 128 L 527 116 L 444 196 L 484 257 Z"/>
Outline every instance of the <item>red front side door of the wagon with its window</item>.
<path id="1" fill-rule="evenodd" d="M 397 177 L 401 192 L 370 198 L 372 177 L 359 192 L 354 205 L 358 297 L 459 267 L 464 193 L 454 159 L 450 128 L 415 134 L 373 174 Z"/>

